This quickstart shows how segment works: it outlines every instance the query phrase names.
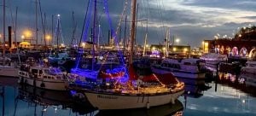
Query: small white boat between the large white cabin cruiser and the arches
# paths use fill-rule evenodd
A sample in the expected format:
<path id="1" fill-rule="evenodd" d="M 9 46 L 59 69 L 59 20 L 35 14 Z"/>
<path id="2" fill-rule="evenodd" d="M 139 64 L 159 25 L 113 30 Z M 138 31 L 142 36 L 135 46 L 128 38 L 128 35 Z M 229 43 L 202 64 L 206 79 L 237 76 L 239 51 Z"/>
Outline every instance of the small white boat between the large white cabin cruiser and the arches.
<path id="1" fill-rule="evenodd" d="M 227 55 L 220 55 L 217 53 L 207 53 L 205 55 L 202 55 L 200 57 L 201 60 L 205 62 L 204 67 L 206 67 L 208 70 L 216 72 L 218 68 L 218 64 L 220 62 L 224 62 L 228 60 Z"/>

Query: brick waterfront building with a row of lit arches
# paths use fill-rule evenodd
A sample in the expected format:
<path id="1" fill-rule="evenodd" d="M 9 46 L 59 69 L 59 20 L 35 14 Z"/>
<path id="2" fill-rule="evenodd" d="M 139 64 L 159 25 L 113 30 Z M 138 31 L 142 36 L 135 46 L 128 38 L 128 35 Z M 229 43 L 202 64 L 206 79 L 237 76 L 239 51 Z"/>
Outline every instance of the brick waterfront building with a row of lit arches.
<path id="1" fill-rule="evenodd" d="M 252 57 L 256 50 L 256 28 L 245 27 L 234 38 L 215 38 L 202 42 L 204 53 L 217 52 L 228 56 Z"/>

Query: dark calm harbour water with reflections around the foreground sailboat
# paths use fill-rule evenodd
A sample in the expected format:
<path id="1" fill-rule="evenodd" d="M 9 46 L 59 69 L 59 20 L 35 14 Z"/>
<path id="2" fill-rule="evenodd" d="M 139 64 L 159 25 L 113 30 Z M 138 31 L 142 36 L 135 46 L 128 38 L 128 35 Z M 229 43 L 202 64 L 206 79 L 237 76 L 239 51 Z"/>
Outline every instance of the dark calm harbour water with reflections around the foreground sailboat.
<path id="1" fill-rule="evenodd" d="M 175 104 L 149 109 L 99 111 L 86 100 L 73 100 L 67 92 L 20 87 L 16 78 L 0 78 L 1 115 L 256 115 L 256 88 L 239 76 L 220 73 L 207 80 L 182 79 L 186 94 Z"/>

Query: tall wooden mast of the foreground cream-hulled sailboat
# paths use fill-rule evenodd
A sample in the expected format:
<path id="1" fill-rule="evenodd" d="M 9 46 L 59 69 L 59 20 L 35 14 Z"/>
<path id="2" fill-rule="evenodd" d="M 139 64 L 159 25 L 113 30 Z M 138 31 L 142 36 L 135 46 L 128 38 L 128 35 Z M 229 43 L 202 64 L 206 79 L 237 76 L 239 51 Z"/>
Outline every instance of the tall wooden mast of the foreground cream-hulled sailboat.
<path id="1" fill-rule="evenodd" d="M 131 50 L 130 50 L 130 59 L 129 59 L 130 65 L 132 64 L 133 44 L 134 44 L 134 38 L 135 38 L 136 4 L 137 4 L 137 0 L 131 0 Z"/>

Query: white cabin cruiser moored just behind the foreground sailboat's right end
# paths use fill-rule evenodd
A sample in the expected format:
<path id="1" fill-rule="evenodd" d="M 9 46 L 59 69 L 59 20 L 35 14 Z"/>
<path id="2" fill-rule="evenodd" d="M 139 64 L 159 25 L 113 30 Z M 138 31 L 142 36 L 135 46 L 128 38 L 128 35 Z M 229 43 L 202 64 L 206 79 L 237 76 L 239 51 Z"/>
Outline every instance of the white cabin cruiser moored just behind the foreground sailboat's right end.
<path id="1" fill-rule="evenodd" d="M 173 73 L 177 78 L 205 78 L 201 72 L 200 59 L 164 59 L 161 64 L 152 65 L 154 73 Z"/>

